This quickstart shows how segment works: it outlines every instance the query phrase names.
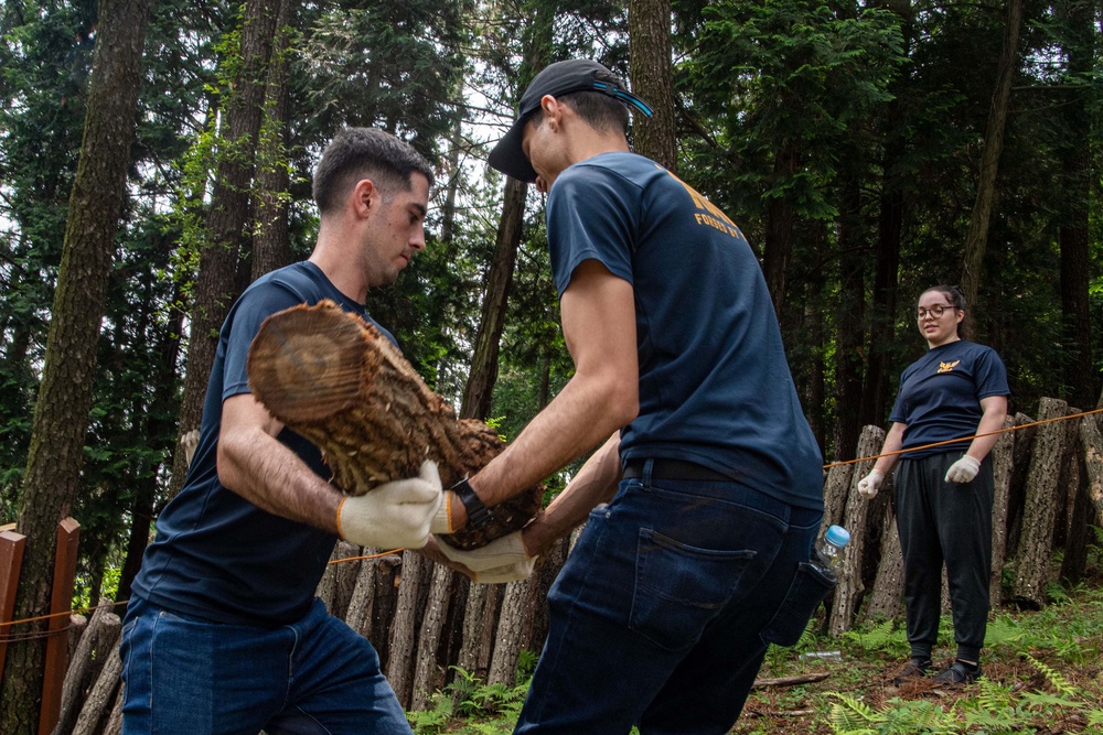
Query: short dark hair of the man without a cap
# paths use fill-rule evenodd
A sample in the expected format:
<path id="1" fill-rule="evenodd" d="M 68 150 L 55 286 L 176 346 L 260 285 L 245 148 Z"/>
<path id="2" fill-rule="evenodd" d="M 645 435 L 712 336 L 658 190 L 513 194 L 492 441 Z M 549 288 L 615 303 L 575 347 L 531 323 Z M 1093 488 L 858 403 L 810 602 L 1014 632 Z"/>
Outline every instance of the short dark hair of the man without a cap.
<path id="1" fill-rule="evenodd" d="M 314 202 L 323 215 L 335 212 L 362 179 L 372 180 L 384 196 L 408 192 L 414 173 L 432 186 L 432 166 L 409 143 L 378 128 L 344 128 L 325 147 L 314 170 Z"/>

